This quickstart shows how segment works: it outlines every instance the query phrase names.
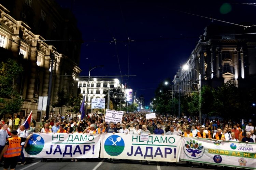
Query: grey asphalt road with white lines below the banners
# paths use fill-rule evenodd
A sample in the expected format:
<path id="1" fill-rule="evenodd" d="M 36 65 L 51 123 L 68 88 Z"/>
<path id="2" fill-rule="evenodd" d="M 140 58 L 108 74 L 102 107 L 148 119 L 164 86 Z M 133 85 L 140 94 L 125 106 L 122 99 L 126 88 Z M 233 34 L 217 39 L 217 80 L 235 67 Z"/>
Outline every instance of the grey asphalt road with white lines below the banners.
<path id="1" fill-rule="evenodd" d="M 62 162 L 56 162 L 56 159 L 48 159 L 48 162 L 40 162 L 40 158 L 33 158 L 26 160 L 25 165 L 17 165 L 16 170 L 193 170 L 193 169 L 220 169 L 221 167 L 208 166 L 207 168 L 200 168 L 199 164 L 194 163 L 193 167 L 186 166 L 185 162 L 179 162 L 176 166 L 172 163 L 167 165 L 163 162 L 140 162 L 138 160 L 122 160 L 114 159 L 110 162 L 107 159 L 79 159 L 78 162 L 71 162 L 70 159 L 63 159 Z M 2 166 L 1 166 L 2 167 Z M 1 168 L 0 167 L 0 168 Z M 234 170 L 234 168 L 225 167 L 224 170 Z"/>

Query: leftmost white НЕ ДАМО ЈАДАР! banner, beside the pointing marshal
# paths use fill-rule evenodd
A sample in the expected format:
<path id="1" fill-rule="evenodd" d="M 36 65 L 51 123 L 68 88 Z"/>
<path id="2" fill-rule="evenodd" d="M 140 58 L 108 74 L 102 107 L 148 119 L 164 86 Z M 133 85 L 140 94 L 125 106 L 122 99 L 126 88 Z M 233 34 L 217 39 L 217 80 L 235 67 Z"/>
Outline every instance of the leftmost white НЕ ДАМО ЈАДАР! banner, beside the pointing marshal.
<path id="1" fill-rule="evenodd" d="M 26 157 L 98 158 L 100 135 L 70 133 L 34 133 L 25 148 Z"/>

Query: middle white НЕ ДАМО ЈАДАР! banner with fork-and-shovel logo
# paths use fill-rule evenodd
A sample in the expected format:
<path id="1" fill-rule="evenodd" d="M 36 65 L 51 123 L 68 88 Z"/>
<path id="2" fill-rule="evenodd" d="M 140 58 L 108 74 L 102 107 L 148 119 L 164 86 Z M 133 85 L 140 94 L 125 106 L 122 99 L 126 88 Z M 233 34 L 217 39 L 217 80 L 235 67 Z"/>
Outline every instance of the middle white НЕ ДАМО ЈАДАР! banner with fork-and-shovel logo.
<path id="1" fill-rule="evenodd" d="M 103 134 L 102 158 L 178 162 L 181 136 L 149 135 L 148 141 L 137 134 Z"/>

